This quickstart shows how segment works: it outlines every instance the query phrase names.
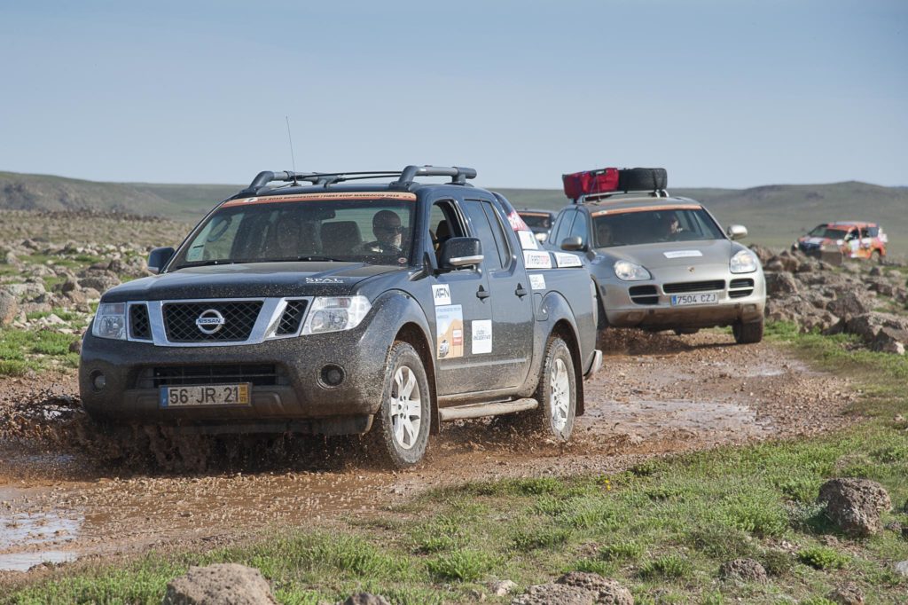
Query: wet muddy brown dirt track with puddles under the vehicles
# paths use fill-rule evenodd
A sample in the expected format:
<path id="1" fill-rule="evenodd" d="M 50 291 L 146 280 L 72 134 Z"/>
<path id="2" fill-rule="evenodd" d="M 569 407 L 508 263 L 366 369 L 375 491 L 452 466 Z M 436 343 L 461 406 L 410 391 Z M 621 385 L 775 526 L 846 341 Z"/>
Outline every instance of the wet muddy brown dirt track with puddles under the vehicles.
<path id="1" fill-rule="evenodd" d="M 269 443 L 230 470 L 138 470 L 100 463 L 109 452 L 84 447 L 72 432 L 44 431 L 66 413 L 54 412 L 35 431 L 0 439 L 0 580 L 42 561 L 222 544 L 269 525 L 312 527 L 439 485 L 614 471 L 646 455 L 813 434 L 850 422 L 843 410 L 856 397 L 848 382 L 770 344 L 735 346 L 719 332 L 616 331 L 586 389 L 587 413 L 566 446 L 500 420 L 458 422 L 443 425 L 426 461 L 404 473 L 360 460 L 356 438 Z M 0 406 L 10 406 L 38 396 L 65 403 L 77 389 L 73 377 L 57 377 L 10 379 L 2 392 Z"/>

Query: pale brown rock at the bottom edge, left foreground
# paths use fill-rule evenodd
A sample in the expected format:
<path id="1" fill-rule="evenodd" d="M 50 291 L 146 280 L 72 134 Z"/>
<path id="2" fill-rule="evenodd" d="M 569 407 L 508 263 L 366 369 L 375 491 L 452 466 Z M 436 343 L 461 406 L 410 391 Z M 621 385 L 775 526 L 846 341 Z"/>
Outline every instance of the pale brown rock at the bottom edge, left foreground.
<path id="1" fill-rule="evenodd" d="M 259 570 L 236 563 L 191 567 L 167 584 L 162 605 L 263 605 L 277 603 Z"/>

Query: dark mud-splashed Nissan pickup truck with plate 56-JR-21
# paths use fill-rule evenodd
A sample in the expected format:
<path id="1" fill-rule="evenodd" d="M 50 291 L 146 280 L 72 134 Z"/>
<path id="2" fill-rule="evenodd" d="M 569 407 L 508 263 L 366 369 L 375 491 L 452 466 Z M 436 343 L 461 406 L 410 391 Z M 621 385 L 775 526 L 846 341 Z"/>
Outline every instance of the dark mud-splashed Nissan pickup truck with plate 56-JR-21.
<path id="1" fill-rule="evenodd" d="M 475 176 L 258 174 L 179 248 L 154 249 L 158 274 L 104 293 L 82 348 L 86 412 L 188 432 L 369 433 L 396 468 L 422 459 L 442 421 L 521 412 L 567 440 L 602 360 L 592 281 Z M 350 183 L 369 179 L 383 182 Z"/>

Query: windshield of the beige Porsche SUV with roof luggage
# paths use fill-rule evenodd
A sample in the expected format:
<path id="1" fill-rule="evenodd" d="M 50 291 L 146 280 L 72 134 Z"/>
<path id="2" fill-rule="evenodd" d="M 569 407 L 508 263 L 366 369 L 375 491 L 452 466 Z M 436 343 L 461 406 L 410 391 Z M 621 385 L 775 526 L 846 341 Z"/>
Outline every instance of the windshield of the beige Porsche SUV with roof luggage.
<path id="1" fill-rule="evenodd" d="M 721 239 L 722 230 L 702 208 L 635 208 L 593 215 L 596 248 Z"/>

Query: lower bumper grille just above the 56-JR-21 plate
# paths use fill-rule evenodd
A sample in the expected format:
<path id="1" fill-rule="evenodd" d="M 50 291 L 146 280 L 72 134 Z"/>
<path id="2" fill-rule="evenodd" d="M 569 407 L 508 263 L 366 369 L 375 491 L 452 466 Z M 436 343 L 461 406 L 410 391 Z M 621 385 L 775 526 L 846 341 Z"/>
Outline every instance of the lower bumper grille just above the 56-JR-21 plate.
<path id="1" fill-rule="evenodd" d="M 252 382 L 252 386 L 288 384 L 282 371 L 271 364 L 252 365 L 177 365 L 145 368 L 135 381 L 137 389 L 163 386 L 198 386 Z"/>

